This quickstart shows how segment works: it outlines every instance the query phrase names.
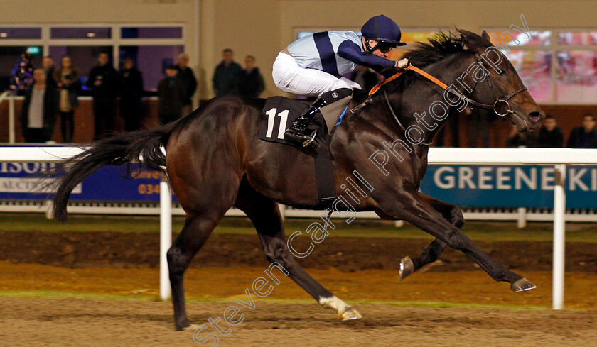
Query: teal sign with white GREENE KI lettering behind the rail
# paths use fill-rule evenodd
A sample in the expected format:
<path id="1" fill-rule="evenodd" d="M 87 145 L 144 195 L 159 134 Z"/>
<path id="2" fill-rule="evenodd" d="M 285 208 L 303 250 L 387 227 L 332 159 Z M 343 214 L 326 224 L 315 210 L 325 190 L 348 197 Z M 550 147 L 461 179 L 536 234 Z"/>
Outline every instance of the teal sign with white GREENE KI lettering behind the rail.
<path id="1" fill-rule="evenodd" d="M 469 207 L 553 207 L 555 170 L 529 165 L 429 165 L 421 192 Z M 566 170 L 566 207 L 597 209 L 597 167 Z"/>

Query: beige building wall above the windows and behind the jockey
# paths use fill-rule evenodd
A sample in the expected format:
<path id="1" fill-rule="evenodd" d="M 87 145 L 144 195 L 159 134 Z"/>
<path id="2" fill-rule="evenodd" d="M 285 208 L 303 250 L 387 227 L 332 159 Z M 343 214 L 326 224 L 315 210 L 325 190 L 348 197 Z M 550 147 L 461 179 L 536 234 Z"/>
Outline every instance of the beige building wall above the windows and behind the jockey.
<path id="1" fill-rule="evenodd" d="M 404 28 L 508 28 L 524 13 L 531 29 L 597 28 L 591 0 L 0 0 L 0 23 L 185 23 L 187 51 L 200 77 L 200 99 L 224 48 L 254 55 L 267 90 L 281 94 L 271 65 L 298 28 L 360 28 L 384 13 Z M 198 16 L 197 12 L 198 10 Z M 198 19 L 197 19 L 198 18 Z"/>

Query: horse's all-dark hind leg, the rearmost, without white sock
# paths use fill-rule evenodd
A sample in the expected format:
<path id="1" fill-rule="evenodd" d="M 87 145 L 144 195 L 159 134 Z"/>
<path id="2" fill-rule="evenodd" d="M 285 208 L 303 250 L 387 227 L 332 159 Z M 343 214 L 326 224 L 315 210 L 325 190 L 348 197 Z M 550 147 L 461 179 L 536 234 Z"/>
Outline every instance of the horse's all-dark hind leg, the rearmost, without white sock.
<path id="1" fill-rule="evenodd" d="M 223 214 L 193 214 L 188 213 L 185 226 L 168 250 L 168 270 L 170 271 L 170 285 L 172 288 L 172 303 L 174 306 L 174 321 L 177 330 L 190 326 L 185 309 L 185 289 L 183 276 L 190 264 L 190 260 L 208 240 L 211 232 L 220 222 Z"/>

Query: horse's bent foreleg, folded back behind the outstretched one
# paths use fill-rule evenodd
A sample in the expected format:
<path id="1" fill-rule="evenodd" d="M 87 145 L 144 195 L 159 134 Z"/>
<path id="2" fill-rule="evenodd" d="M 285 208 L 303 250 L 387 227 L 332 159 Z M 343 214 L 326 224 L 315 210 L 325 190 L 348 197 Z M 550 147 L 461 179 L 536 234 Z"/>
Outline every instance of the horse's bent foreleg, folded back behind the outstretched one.
<path id="1" fill-rule="evenodd" d="M 456 228 L 462 228 L 464 225 L 464 217 L 458 206 L 450 204 L 449 202 L 443 202 L 434 197 L 429 197 L 425 194 L 419 193 L 419 196 L 438 211 L 446 221 L 450 222 L 453 226 L 456 226 Z M 400 280 L 404 280 L 404 278 L 408 277 L 413 272 L 416 272 L 416 270 L 436 261 L 447 246 L 448 245 L 445 242 L 436 238 L 415 258 L 410 258 L 408 256 L 402 258 L 402 260 L 400 260 Z"/>

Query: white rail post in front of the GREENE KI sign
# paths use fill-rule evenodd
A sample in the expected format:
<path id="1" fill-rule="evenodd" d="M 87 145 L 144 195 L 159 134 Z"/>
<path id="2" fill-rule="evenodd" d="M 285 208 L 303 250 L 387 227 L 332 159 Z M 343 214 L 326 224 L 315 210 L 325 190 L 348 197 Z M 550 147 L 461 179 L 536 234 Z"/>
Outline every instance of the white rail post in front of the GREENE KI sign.
<path id="1" fill-rule="evenodd" d="M 552 272 L 552 308 L 564 308 L 564 250 L 566 246 L 566 165 L 555 165 L 554 185 L 554 270 Z"/>

